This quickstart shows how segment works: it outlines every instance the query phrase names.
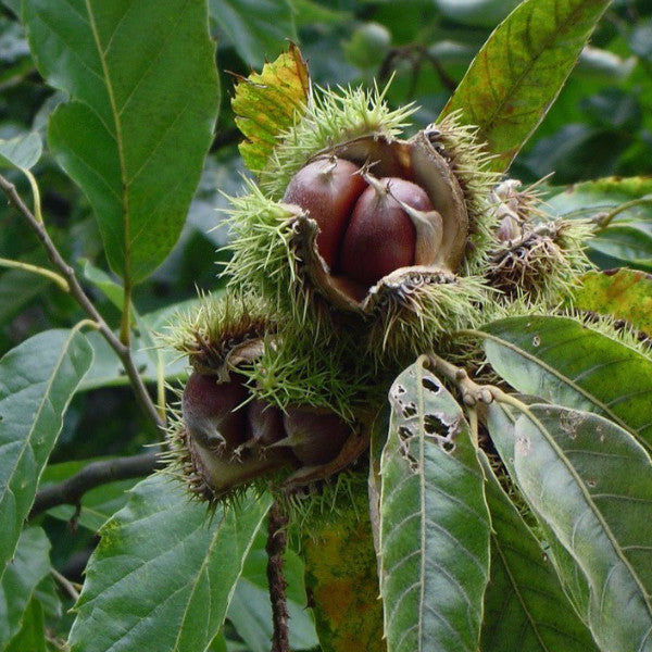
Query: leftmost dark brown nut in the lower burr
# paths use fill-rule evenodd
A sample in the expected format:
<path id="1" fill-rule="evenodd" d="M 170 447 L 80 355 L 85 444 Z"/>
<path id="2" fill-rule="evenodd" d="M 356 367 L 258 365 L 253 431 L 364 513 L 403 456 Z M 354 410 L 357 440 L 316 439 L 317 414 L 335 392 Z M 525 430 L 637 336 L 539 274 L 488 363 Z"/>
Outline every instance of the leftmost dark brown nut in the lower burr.
<path id="1" fill-rule="evenodd" d="M 184 390 L 181 413 L 190 436 L 204 448 L 235 449 L 244 441 L 247 399 L 240 378 L 217 383 L 213 375 L 193 372 Z"/>

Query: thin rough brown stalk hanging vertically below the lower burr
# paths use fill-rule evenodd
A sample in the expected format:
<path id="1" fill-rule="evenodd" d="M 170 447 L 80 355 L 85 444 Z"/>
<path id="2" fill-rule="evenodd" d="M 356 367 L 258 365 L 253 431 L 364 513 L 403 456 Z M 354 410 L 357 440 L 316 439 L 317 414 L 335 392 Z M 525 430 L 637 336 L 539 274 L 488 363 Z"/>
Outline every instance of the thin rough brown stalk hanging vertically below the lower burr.
<path id="1" fill-rule="evenodd" d="M 267 580 L 272 601 L 272 652 L 290 652 L 288 631 L 288 604 L 286 600 L 287 582 L 283 573 L 283 553 L 287 544 L 286 527 L 288 517 L 283 513 L 278 501 L 269 509 L 267 525 Z"/>

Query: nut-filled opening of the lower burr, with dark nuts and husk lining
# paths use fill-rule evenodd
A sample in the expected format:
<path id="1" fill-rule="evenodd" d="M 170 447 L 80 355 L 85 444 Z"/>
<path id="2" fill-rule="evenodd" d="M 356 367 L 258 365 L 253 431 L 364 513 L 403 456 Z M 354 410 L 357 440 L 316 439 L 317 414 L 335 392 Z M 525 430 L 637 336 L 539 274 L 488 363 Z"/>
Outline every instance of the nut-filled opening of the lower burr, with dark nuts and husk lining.
<path id="1" fill-rule="evenodd" d="M 290 405 L 281 412 L 252 399 L 243 378 L 233 372 L 226 381 L 193 372 L 181 414 L 183 446 L 196 490 L 209 500 L 283 467 L 294 469 L 289 485 L 323 479 L 356 459 L 367 443 L 328 409 Z M 344 447 L 353 451 L 352 457 L 339 463 Z"/>

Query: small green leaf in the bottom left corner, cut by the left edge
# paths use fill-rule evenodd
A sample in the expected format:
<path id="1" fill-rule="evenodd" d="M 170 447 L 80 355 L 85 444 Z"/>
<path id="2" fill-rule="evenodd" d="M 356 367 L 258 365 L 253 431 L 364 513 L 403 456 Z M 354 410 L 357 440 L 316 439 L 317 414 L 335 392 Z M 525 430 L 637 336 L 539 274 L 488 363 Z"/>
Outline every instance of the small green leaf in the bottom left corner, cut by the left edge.
<path id="1" fill-rule="evenodd" d="M 0 581 L 0 650 L 23 626 L 37 585 L 50 573 L 50 541 L 40 527 L 21 532 L 13 560 Z"/>

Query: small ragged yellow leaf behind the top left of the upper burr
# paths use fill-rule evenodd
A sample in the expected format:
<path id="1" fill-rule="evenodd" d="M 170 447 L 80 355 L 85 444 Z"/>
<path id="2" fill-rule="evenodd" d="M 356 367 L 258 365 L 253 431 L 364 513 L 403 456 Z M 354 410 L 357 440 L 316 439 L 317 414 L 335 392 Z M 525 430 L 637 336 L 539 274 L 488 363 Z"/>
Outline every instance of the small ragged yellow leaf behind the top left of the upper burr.
<path id="1" fill-rule="evenodd" d="M 264 170 L 278 135 L 303 114 L 309 93 L 308 66 L 293 43 L 260 74 L 240 78 L 231 106 L 246 137 L 240 154 L 249 170 Z"/>

